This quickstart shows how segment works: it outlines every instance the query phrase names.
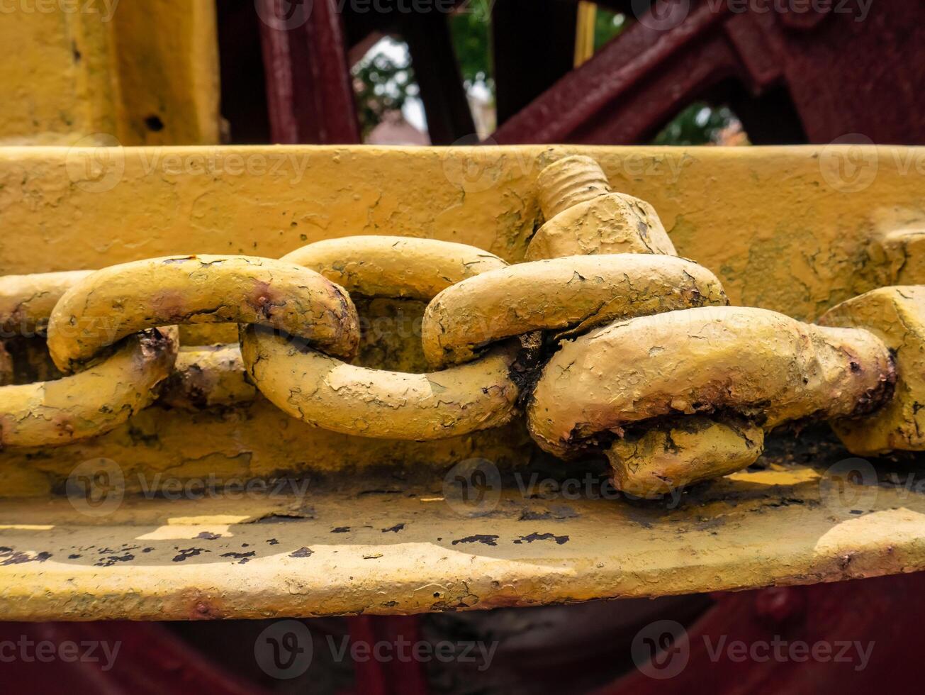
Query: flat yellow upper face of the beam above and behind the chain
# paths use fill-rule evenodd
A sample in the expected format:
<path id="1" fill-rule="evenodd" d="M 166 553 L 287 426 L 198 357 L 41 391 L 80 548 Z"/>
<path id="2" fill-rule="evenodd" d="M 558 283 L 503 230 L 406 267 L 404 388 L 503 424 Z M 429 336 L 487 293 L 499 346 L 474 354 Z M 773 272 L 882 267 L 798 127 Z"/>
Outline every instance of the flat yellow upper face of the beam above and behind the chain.
<path id="1" fill-rule="evenodd" d="M 653 205 L 678 254 L 715 273 L 733 304 L 803 320 L 886 284 L 874 238 L 925 221 L 925 153 L 906 147 L 11 148 L 0 210 L 17 234 L 0 238 L 0 273 L 279 257 L 371 233 L 519 261 L 542 221 L 536 176 L 566 153 L 593 155 L 615 190 Z M 110 156 L 91 176 L 68 166 L 84 155 Z"/>

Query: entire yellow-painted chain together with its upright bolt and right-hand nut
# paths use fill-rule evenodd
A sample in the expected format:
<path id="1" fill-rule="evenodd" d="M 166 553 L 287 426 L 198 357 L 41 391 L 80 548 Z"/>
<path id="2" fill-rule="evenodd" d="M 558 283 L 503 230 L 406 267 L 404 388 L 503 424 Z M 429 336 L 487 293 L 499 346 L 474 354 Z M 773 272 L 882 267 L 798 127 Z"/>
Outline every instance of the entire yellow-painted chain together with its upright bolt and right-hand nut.
<path id="1" fill-rule="evenodd" d="M 523 410 L 541 448 L 605 453 L 617 486 L 644 497 L 750 465 L 765 432 L 794 420 L 832 421 L 852 453 L 925 448 L 925 287 L 868 292 L 816 325 L 728 306 L 719 279 L 678 257 L 655 210 L 612 192 L 594 160 L 565 157 L 537 185 L 546 221 L 513 266 L 460 243 L 360 236 L 279 260 L 0 278 L 3 336 L 46 333 L 71 374 L 0 386 L 0 447 L 93 437 L 157 398 L 210 407 L 260 391 L 316 427 L 389 439 Z M 351 293 L 427 302 L 437 371 L 349 364 Z M 173 327 L 198 323 L 238 324 L 240 345 L 179 347 Z"/>

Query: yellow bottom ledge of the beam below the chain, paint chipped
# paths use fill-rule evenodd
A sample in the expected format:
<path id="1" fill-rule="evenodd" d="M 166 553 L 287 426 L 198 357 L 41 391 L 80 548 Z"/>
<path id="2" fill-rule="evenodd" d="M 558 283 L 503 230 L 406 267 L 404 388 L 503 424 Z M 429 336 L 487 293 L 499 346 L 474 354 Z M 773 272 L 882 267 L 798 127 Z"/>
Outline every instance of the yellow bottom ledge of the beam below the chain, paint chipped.
<path id="1" fill-rule="evenodd" d="M 371 474 L 313 480 L 307 496 L 126 498 L 95 517 L 75 515 L 67 500 L 6 501 L 0 524 L 13 561 L 0 562 L 0 610 L 31 620 L 407 614 L 925 566 L 925 497 L 888 478 L 827 476 L 841 454 L 818 436 L 796 450 L 785 438 L 791 451 L 769 456 L 770 468 L 709 483 L 677 508 L 561 498 L 555 485 L 548 499 L 525 497 L 509 480 L 497 506 L 470 516 L 432 475 Z M 891 465 L 881 464 L 886 475 Z M 524 480 L 538 470 L 522 469 Z"/>

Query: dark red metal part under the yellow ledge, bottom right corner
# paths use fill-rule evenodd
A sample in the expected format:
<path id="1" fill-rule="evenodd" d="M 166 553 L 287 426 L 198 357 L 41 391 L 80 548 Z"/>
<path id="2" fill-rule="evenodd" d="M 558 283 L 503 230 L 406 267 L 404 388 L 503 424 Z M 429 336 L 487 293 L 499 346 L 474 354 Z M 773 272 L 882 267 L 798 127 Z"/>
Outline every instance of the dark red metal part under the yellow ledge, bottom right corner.
<path id="1" fill-rule="evenodd" d="M 845 563 L 850 561 L 845 558 Z M 917 692 L 922 680 L 916 666 L 925 616 L 923 590 L 925 573 L 724 594 L 687 629 L 686 646 L 672 645 L 689 651 L 680 673 L 658 679 L 634 670 L 597 695 Z M 742 659 L 727 649 L 737 641 L 749 649 L 759 644 L 756 653 L 764 659 L 763 645 L 773 650 L 775 639 L 787 645 L 778 648 L 783 660 L 773 652 L 766 661 Z M 873 643 L 870 661 L 863 668 L 858 658 L 844 661 L 855 655 L 855 648 L 849 653 L 844 643 L 856 640 L 865 649 Z M 796 654 L 792 658 L 794 642 L 805 642 L 810 648 L 821 642 L 833 652 L 825 660 L 814 659 L 811 653 L 804 658 L 798 651 L 792 652 Z"/>

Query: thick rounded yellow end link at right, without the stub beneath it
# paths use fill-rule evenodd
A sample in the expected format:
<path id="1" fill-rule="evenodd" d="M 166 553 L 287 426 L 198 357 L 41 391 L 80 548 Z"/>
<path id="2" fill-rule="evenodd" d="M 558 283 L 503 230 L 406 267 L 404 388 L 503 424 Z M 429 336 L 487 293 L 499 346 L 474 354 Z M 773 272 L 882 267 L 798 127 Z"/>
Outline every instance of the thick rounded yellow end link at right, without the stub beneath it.
<path id="1" fill-rule="evenodd" d="M 536 384 L 528 422 L 540 446 L 563 455 L 661 417 L 728 409 L 773 428 L 858 416 L 886 403 L 893 382 L 890 352 L 867 330 L 709 306 L 614 323 L 563 345 Z"/>

